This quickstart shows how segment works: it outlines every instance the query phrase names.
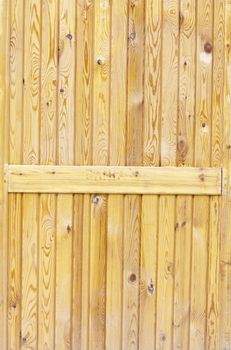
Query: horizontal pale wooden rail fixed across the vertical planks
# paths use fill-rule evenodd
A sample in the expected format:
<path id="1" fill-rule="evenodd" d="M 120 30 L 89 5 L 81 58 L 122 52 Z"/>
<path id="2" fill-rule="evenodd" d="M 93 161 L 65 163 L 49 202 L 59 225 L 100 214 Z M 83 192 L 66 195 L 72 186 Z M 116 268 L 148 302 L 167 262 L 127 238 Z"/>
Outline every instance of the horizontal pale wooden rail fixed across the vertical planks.
<path id="1" fill-rule="evenodd" d="M 8 192 L 219 195 L 220 168 L 7 165 Z"/>

